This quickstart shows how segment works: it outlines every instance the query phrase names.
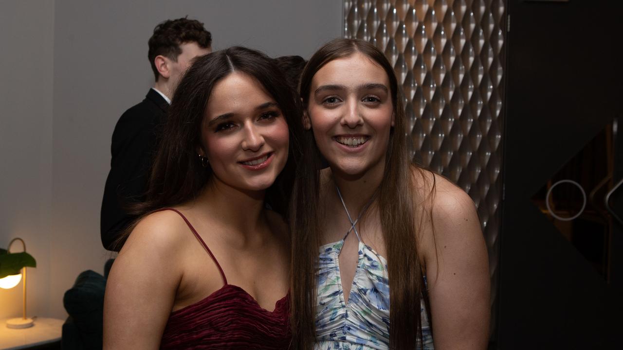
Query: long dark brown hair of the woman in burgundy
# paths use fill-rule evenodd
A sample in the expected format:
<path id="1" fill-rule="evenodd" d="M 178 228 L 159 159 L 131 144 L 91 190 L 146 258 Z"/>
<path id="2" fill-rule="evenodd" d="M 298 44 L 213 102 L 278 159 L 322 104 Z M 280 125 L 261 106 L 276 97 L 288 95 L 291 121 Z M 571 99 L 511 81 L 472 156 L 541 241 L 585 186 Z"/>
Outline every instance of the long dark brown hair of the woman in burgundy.
<path id="1" fill-rule="evenodd" d="M 255 78 L 272 96 L 288 124 L 290 146 L 283 171 L 266 191 L 265 202 L 287 217 L 288 201 L 302 149 L 302 110 L 295 91 L 272 59 L 245 47 L 230 47 L 198 57 L 180 80 L 159 140 L 145 201 L 131 206 L 136 215 L 194 199 L 212 177 L 201 165 L 201 123 L 212 88 L 234 72 Z M 130 230 L 132 227 L 130 227 Z M 128 230 L 128 231 L 130 231 Z"/>

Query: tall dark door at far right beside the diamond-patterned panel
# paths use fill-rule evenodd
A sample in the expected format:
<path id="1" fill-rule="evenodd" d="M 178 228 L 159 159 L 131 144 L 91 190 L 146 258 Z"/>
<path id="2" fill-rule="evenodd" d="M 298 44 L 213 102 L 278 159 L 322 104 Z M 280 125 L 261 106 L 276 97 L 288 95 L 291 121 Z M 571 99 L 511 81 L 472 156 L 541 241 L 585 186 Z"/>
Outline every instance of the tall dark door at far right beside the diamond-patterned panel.
<path id="1" fill-rule="evenodd" d="M 603 201 L 623 179 L 621 1 L 510 0 L 508 13 L 492 348 L 621 349 L 623 186 L 612 212 Z"/>

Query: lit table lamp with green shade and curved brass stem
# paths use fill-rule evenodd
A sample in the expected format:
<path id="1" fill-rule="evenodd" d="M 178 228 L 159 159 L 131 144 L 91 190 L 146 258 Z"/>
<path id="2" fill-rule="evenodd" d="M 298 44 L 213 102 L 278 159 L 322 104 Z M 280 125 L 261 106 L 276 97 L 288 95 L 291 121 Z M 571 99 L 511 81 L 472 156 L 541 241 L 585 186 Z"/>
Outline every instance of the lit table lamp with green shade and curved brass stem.
<path id="1" fill-rule="evenodd" d="M 24 252 L 11 253 L 13 242 L 22 242 Z M 10 289 L 19 284 L 24 277 L 24 315 L 6 321 L 8 328 L 28 328 L 32 326 L 32 318 L 26 318 L 26 267 L 37 267 L 37 262 L 26 253 L 26 244 L 20 238 L 12 239 L 7 250 L 0 248 L 0 288 Z M 20 273 L 20 270 L 21 273 Z"/>

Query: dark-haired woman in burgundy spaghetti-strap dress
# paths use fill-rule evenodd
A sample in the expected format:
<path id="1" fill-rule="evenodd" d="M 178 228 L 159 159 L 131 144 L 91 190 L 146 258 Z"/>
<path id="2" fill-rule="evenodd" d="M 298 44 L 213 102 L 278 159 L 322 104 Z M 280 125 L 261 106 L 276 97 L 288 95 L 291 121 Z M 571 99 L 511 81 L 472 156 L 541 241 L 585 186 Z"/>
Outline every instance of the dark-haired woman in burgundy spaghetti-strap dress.
<path id="1" fill-rule="evenodd" d="M 298 98 L 234 47 L 179 83 L 143 217 L 108 278 L 104 349 L 285 349 Z"/>

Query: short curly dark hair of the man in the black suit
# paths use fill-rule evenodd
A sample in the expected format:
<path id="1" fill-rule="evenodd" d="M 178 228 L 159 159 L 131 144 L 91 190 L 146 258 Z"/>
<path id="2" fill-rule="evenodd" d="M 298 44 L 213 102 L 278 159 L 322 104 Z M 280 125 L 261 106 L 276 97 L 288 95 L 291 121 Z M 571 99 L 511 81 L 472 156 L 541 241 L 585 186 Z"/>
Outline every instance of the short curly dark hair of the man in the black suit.
<path id="1" fill-rule="evenodd" d="M 154 34 L 151 35 L 148 42 L 150 50 L 147 57 L 150 60 L 156 82 L 160 76 L 154 63 L 156 56 L 163 55 L 174 62 L 178 62 L 178 56 L 182 53 L 179 45 L 185 42 L 196 42 L 199 47 L 207 49 L 212 45 L 212 34 L 206 31 L 203 23 L 196 19 L 188 19 L 188 16 L 168 19 L 154 28 Z"/>

